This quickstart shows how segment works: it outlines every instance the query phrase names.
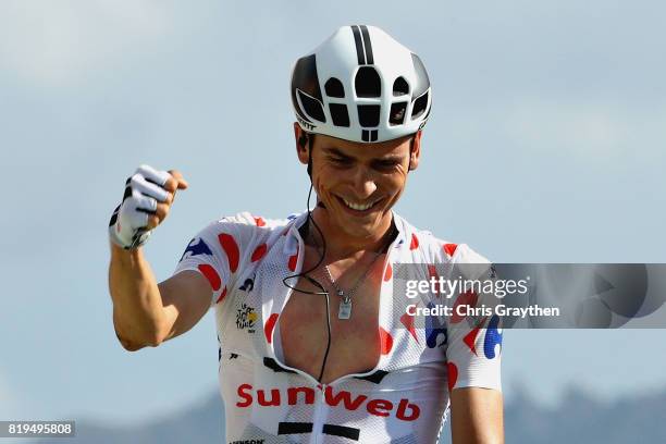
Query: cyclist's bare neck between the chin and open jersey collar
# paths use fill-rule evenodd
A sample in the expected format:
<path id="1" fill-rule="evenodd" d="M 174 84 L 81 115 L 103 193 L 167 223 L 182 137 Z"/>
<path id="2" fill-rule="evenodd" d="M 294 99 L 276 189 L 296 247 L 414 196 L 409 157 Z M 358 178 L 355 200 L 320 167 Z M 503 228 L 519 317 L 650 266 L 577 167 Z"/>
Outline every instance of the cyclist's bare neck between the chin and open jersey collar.
<path id="1" fill-rule="evenodd" d="M 312 219 L 321 230 L 326 240 L 326 257 L 336 260 L 362 255 L 363 251 L 383 252 L 393 240 L 396 232 L 393 226 L 393 215 L 387 213 L 378 230 L 370 236 L 354 237 L 330 223 L 330 218 L 325 214 L 325 209 L 321 207 L 312 210 Z M 321 235 L 312 226 L 308 229 L 306 243 L 311 246 L 321 246 Z"/>

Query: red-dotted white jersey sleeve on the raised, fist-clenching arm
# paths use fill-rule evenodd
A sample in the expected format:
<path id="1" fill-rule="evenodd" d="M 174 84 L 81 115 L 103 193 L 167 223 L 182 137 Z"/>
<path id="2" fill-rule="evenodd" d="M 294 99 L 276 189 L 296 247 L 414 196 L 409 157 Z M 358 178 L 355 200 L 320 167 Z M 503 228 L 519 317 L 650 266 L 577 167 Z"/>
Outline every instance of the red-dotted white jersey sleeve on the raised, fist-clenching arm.
<path id="1" fill-rule="evenodd" d="M 211 307 L 221 303 L 246 267 L 258 224 L 249 213 L 210 223 L 187 244 L 173 275 L 185 270 L 198 271 L 212 288 Z"/>

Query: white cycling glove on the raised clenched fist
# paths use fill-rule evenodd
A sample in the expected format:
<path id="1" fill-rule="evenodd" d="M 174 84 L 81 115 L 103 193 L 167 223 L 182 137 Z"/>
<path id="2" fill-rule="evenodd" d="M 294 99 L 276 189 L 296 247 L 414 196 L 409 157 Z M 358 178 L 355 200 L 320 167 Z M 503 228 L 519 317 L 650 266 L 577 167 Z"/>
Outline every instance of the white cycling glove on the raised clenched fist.
<path id="1" fill-rule="evenodd" d="M 169 177 L 171 174 L 166 171 L 140 165 L 127 178 L 123 201 L 113 211 L 109 222 L 111 242 L 124 249 L 132 249 L 148 240 L 148 217 L 155 214 L 158 201 L 165 202 L 169 198 L 169 192 L 164 189 Z"/>

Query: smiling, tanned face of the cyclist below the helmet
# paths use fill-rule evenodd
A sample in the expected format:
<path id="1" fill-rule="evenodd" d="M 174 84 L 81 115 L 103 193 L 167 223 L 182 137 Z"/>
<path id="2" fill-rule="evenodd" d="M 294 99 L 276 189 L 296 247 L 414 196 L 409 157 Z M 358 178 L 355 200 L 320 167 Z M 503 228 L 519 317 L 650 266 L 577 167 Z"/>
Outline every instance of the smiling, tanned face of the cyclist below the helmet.
<path id="1" fill-rule="evenodd" d="M 377 144 L 316 135 L 312 183 L 330 223 L 355 238 L 386 230 L 390 210 L 405 188 L 410 156 L 414 170 L 419 153 L 420 133 Z M 301 151 L 299 158 L 307 163 Z"/>

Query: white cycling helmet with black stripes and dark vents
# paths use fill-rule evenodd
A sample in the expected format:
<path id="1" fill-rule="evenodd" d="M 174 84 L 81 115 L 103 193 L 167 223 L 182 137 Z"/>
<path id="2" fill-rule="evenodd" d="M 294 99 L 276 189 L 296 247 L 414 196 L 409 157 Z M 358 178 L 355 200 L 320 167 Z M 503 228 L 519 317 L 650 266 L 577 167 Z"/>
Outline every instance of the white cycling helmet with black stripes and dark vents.
<path id="1" fill-rule="evenodd" d="M 300 127 L 345 140 L 416 133 L 428 120 L 431 96 L 421 59 L 374 26 L 341 27 L 292 71 Z"/>

